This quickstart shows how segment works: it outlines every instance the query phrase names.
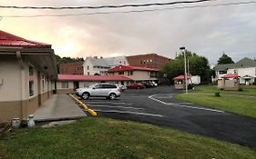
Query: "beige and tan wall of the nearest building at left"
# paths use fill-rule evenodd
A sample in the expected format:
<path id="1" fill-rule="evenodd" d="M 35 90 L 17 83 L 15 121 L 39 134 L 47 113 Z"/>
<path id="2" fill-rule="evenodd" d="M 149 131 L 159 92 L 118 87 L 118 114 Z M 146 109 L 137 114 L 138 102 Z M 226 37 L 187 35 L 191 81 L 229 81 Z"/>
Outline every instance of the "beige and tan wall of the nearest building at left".
<path id="1" fill-rule="evenodd" d="M 29 96 L 29 65 L 34 66 L 33 96 Z M 30 63 L 26 56 L 22 56 L 21 64 L 15 55 L 0 55 L 0 123 L 15 117 L 27 118 L 40 106 L 38 105 L 39 97 L 41 97 L 41 104 L 50 97 L 51 80 L 49 79 L 48 82 L 46 80 L 44 91 L 38 91 L 38 81 L 42 88 L 41 75 L 44 74 L 40 73 L 38 76 L 37 72 L 36 66 Z"/>

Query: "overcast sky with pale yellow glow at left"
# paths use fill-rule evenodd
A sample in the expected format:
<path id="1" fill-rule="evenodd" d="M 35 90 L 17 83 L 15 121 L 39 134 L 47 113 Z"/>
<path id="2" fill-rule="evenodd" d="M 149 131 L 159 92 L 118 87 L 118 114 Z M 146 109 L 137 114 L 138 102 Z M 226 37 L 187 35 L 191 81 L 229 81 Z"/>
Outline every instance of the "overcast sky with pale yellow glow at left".
<path id="1" fill-rule="evenodd" d="M 41 0 L 1 1 L 0 5 L 78 6 L 121 5 L 176 0 Z M 247 0 L 216 0 L 210 5 Z M 175 5 L 184 6 L 184 5 Z M 141 55 L 157 53 L 174 58 L 180 46 L 217 63 L 222 52 L 234 61 L 256 57 L 256 4 L 163 10 L 157 12 L 10 18 L 5 15 L 63 15 L 116 12 L 164 7 L 98 10 L 0 9 L 0 29 L 26 39 L 51 44 L 56 55 L 71 57 Z"/>

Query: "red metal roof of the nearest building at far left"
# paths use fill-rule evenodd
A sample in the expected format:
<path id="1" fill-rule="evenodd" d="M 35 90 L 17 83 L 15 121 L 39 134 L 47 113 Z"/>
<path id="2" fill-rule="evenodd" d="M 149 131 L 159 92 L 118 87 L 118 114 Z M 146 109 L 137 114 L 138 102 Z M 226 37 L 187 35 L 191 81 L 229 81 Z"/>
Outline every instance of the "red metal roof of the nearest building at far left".
<path id="1" fill-rule="evenodd" d="M 26 40 L 22 37 L 12 35 L 0 30 L 0 46 L 12 46 L 12 47 L 40 47 L 50 48 L 51 45 L 39 43 L 31 40 Z"/>

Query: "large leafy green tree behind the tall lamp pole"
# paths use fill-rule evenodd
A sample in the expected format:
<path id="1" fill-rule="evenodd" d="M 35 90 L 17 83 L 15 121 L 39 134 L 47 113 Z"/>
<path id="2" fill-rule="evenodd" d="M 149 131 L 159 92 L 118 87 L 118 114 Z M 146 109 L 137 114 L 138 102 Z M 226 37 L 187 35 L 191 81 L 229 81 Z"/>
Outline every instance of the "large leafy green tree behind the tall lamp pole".
<path id="1" fill-rule="evenodd" d="M 186 52 L 186 56 L 187 59 L 189 59 L 189 74 L 200 75 L 202 82 L 209 82 L 211 71 L 208 59 L 189 51 Z M 165 65 L 161 70 L 161 73 L 166 74 L 169 79 L 178 75 L 184 75 L 184 54 L 180 54 Z"/>

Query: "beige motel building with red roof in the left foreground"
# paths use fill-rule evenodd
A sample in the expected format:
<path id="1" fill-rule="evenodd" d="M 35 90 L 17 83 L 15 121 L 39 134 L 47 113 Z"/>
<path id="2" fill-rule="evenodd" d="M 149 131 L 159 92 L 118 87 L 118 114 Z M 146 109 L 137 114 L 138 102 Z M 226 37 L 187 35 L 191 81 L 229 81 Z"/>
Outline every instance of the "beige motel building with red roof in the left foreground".
<path id="1" fill-rule="evenodd" d="M 0 30 L 0 123 L 27 119 L 55 90 L 51 45 Z"/>

